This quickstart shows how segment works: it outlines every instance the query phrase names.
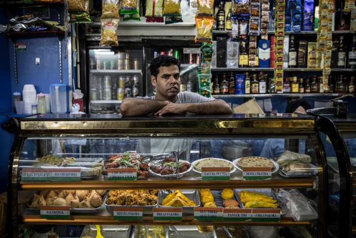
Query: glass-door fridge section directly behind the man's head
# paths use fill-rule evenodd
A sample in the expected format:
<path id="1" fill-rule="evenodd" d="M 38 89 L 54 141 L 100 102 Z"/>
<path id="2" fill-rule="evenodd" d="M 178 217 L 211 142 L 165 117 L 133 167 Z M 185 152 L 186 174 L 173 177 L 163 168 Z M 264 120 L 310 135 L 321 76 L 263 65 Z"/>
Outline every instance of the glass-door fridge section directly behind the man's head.
<path id="1" fill-rule="evenodd" d="M 201 43 L 194 43 L 193 40 L 142 39 L 145 95 L 156 94 L 151 84 L 150 63 L 159 55 L 174 56 L 181 61 L 181 91 L 199 93 L 197 68 L 201 61 L 200 45 Z"/>

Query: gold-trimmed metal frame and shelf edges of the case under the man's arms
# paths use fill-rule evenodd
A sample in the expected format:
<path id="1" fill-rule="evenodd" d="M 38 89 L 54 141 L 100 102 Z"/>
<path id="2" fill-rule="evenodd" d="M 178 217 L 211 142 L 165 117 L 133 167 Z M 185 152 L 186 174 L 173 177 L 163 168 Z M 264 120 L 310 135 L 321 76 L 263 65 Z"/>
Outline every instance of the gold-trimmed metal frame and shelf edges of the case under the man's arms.
<path id="1" fill-rule="evenodd" d="M 18 169 L 20 151 L 26 138 L 286 138 L 310 137 L 318 166 L 319 179 L 315 177 L 284 178 L 274 174 L 271 180 L 243 180 L 242 175 L 231 175 L 230 181 L 202 181 L 194 177 L 162 180 L 149 178 L 135 181 L 112 181 L 104 179 L 81 180 L 79 182 L 27 182 L 19 181 Z M 318 237 L 324 237 L 325 175 L 323 147 L 314 127 L 314 118 L 290 114 L 226 114 L 226 115 L 186 115 L 121 117 L 115 114 L 48 114 L 32 116 L 20 121 L 20 128 L 12 147 L 9 162 L 8 214 L 16 237 L 18 224 L 155 224 L 155 225 L 207 225 L 194 220 L 193 216 L 183 216 L 182 221 L 153 221 L 152 216 L 144 216 L 142 221 L 118 221 L 105 209 L 95 215 L 71 215 L 70 220 L 41 219 L 40 215 L 18 214 L 18 191 L 46 189 L 191 189 L 191 188 L 317 188 L 316 201 L 319 218 L 311 221 L 294 221 L 292 217 L 282 217 L 280 222 L 209 222 L 209 225 L 263 225 L 316 227 Z M 11 236 L 11 235 L 10 235 Z"/>

